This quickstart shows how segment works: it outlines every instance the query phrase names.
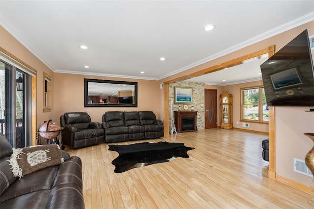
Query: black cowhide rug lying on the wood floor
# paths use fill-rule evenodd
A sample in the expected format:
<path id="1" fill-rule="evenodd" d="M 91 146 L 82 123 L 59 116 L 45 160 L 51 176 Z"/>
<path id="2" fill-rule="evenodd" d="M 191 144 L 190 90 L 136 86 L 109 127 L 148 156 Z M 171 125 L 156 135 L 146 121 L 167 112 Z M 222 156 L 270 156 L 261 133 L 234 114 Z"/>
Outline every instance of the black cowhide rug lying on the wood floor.
<path id="1" fill-rule="evenodd" d="M 109 145 L 111 151 L 119 156 L 112 161 L 114 172 L 122 173 L 136 167 L 143 167 L 154 163 L 164 163 L 177 157 L 188 158 L 187 151 L 194 148 L 186 147 L 183 143 L 144 142 L 130 145 Z"/>

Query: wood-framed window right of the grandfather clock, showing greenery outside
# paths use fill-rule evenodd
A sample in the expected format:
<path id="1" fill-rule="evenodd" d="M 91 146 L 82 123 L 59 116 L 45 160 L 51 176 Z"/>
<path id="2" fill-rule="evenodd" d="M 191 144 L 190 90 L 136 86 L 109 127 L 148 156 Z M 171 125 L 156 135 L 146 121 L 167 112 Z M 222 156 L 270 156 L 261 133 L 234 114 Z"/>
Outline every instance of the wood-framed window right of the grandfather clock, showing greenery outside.
<path id="1" fill-rule="evenodd" d="M 241 89 L 241 120 L 268 122 L 268 106 L 263 87 Z"/>

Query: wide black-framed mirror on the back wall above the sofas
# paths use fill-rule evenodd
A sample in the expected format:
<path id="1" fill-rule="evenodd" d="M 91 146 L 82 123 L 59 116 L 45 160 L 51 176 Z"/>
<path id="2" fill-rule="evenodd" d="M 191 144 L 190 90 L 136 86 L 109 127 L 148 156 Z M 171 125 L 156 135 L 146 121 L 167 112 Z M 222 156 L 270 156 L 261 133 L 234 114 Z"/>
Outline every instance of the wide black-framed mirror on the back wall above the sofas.
<path id="1" fill-rule="evenodd" d="M 85 78 L 84 107 L 137 107 L 137 82 Z"/>

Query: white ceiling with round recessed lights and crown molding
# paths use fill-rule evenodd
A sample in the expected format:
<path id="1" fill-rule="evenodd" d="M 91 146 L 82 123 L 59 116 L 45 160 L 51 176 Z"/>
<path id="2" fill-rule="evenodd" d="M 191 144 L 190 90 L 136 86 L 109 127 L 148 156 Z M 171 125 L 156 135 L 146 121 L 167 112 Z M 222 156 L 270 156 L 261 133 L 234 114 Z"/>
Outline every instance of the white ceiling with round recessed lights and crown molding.
<path id="1" fill-rule="evenodd" d="M 1 26 L 52 71 L 149 80 L 313 20 L 314 0 L 0 0 Z M 261 79 L 242 70 L 202 82 Z"/>

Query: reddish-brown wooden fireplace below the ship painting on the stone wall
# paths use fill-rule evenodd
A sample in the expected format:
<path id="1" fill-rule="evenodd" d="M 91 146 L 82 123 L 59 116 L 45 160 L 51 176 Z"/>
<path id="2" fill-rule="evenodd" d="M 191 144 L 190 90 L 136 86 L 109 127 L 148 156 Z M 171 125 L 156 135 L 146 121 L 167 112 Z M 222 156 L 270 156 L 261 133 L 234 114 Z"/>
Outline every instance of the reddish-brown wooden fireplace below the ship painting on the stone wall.
<path id="1" fill-rule="evenodd" d="M 175 113 L 175 126 L 177 129 L 177 133 L 180 132 L 191 132 L 191 131 L 197 131 L 197 126 L 196 126 L 196 116 L 197 116 L 197 111 L 174 111 Z M 194 127 L 189 130 L 184 130 L 182 127 L 182 119 L 190 118 L 194 120 Z"/>

